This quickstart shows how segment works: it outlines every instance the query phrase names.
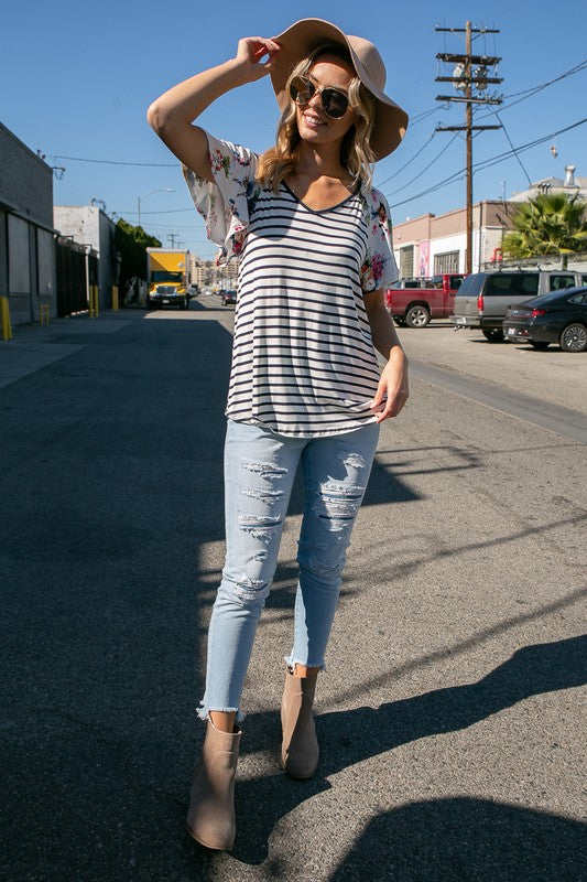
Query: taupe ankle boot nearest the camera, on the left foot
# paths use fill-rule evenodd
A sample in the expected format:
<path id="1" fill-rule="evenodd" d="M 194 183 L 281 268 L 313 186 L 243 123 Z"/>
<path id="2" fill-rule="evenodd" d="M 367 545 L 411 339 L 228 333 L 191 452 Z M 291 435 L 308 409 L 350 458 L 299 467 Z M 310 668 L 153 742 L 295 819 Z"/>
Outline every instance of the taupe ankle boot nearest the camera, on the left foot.
<path id="1" fill-rule="evenodd" d="M 224 851 L 235 842 L 239 744 L 240 730 L 221 732 L 208 720 L 186 819 L 187 832 L 206 848 Z"/>

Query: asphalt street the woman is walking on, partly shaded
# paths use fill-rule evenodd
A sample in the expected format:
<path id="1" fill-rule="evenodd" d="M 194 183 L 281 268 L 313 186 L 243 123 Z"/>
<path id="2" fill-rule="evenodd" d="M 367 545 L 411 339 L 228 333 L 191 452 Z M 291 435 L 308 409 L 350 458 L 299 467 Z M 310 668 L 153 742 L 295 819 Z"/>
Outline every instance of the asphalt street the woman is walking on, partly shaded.
<path id="1" fill-rule="evenodd" d="M 230 308 L 0 342 L 10 882 L 579 882 L 587 356 L 404 331 L 317 696 L 279 768 L 301 494 L 249 671 L 238 835 L 184 832 L 222 566 Z"/>

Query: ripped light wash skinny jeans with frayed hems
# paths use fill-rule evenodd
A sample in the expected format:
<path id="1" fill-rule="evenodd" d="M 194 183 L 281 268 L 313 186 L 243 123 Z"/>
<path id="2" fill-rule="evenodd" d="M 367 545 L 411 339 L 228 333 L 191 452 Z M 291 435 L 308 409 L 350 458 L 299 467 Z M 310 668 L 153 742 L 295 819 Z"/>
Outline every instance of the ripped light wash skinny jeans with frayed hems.
<path id="1" fill-rule="evenodd" d="M 379 426 L 327 438 L 290 438 L 228 420 L 225 445 L 226 561 L 208 631 L 199 716 L 237 711 L 283 523 L 302 463 L 304 514 L 294 641 L 285 662 L 324 667 L 345 552 L 373 462 Z"/>

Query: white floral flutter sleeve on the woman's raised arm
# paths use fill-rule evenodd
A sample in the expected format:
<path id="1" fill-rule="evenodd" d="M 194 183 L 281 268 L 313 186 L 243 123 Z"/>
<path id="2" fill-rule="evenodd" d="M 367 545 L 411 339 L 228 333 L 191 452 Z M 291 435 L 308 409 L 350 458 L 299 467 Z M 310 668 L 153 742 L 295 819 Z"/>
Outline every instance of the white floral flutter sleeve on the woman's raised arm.
<path id="1" fill-rule="evenodd" d="M 182 165 L 194 204 L 206 222 L 208 239 L 220 246 L 218 263 L 227 263 L 244 245 L 249 213 L 259 193 L 254 181 L 257 154 L 240 144 L 208 135 L 214 182 Z"/>

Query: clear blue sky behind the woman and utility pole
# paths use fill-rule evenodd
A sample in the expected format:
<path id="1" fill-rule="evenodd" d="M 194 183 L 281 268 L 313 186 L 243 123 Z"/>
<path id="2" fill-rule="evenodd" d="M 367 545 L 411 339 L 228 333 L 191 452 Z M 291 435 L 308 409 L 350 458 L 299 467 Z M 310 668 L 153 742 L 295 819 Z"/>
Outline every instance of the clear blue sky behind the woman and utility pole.
<path id="1" fill-rule="evenodd" d="M 285 4 L 268 0 L 10 3 L 2 13 L 0 120 L 33 151 L 41 149 L 51 165 L 65 166 L 63 180 L 54 181 L 56 204 L 101 200 L 108 214 L 116 212 L 135 223 L 138 196 L 173 189 L 142 201 L 142 225 L 164 245 L 170 244 L 169 234 L 177 234 L 183 245 L 211 257 L 216 249 L 206 243 L 174 158 L 146 125 L 145 109 L 169 86 L 231 57 L 240 36 L 272 36 L 300 18 L 316 17 L 377 43 L 388 68 L 388 94 L 414 120 L 402 146 L 376 172 L 376 185 L 388 196 L 395 223 L 426 212 L 442 214 L 465 201 L 464 178 L 418 195 L 465 165 L 461 136 L 433 136 L 438 123 L 460 125 L 465 115 L 463 105 L 446 107 L 435 100 L 453 88 L 434 82 L 438 73 L 449 74 L 447 68 L 437 69 L 436 53 L 464 51 L 461 35 L 436 33 L 436 25 L 464 26 L 470 19 L 476 26 L 501 31 L 478 37 L 474 52 L 502 57 L 503 83 L 491 88 L 503 96 L 552 80 L 587 56 L 587 13 L 579 0 L 457 0 L 444 7 L 431 0 L 404 4 L 324 0 L 296 2 L 294 8 L 290 13 Z M 584 68 L 512 107 L 508 105 L 524 96 L 506 97 L 498 108 L 506 131 L 479 133 L 474 162 L 510 150 L 507 136 L 518 148 L 579 121 L 587 116 L 586 87 Z M 477 111 L 479 121 L 488 112 L 490 108 Z M 271 84 L 264 78 L 224 96 L 200 121 L 215 135 L 260 151 L 272 143 L 276 118 Z M 494 117 L 483 119 L 486 125 L 493 122 Z M 556 159 L 551 146 L 557 150 Z M 525 172 L 515 157 L 479 169 L 474 198 L 500 198 L 524 190 L 526 173 L 532 181 L 564 176 L 566 164 L 587 176 L 586 147 L 587 125 L 583 125 L 520 153 Z"/>

